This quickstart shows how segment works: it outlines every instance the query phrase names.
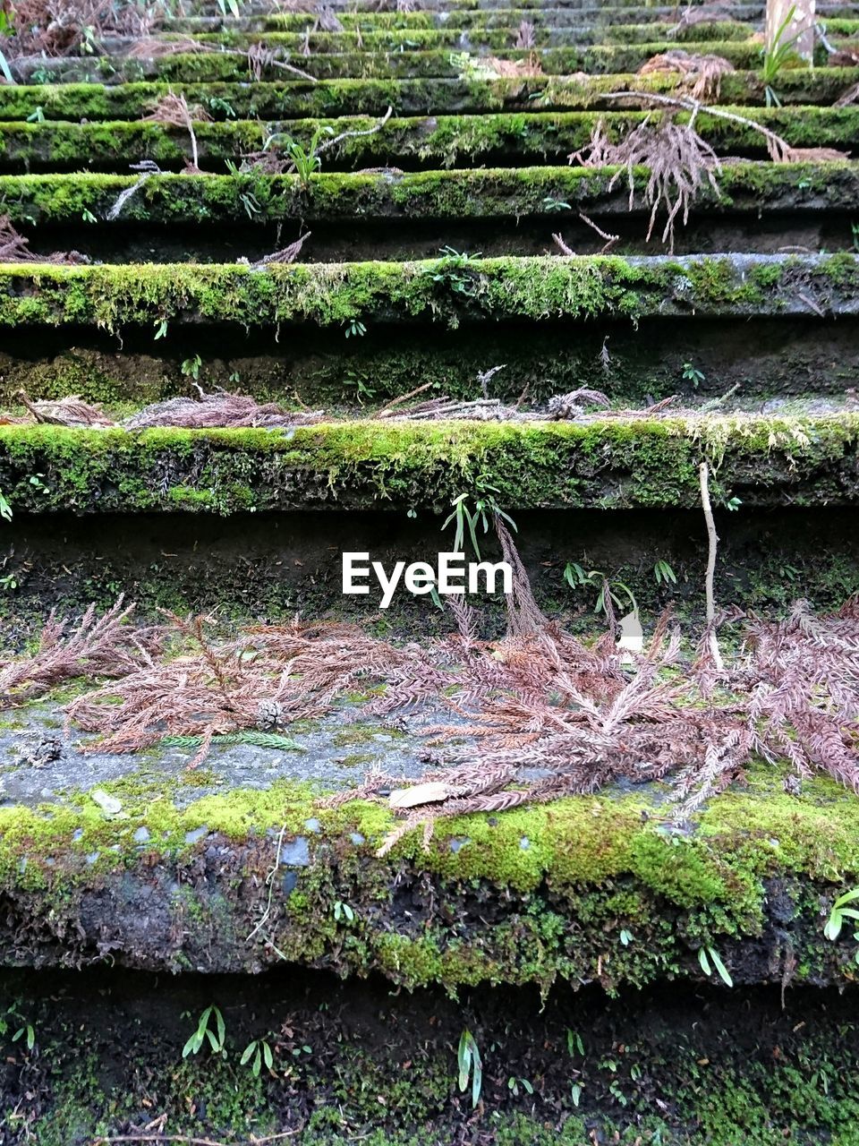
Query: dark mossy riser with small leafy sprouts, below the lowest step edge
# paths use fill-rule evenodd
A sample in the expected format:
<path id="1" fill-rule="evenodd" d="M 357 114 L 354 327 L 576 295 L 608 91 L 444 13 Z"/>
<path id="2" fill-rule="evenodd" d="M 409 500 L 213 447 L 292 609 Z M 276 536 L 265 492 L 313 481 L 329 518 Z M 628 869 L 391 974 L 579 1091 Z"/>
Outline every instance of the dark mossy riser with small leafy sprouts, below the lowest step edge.
<path id="1" fill-rule="evenodd" d="M 423 918 L 421 896 L 404 882 L 403 912 Z M 789 905 L 778 886 L 773 896 Z M 486 910 L 494 905 L 487 896 Z M 773 929 L 791 942 L 778 919 Z M 630 937 L 620 933 L 607 917 L 606 961 Z M 522 935 L 537 945 L 530 929 Z M 790 978 L 786 949 L 772 955 Z M 9 971 L 1 986 L 14 1000 L 7 1108 L 39 1146 L 121 1143 L 153 1115 L 179 1141 L 223 1146 L 451 1146 L 475 1132 L 486 1146 L 857 1141 L 850 990 L 727 990 L 714 972 L 617 999 L 596 982 L 559 983 L 538 999 L 530 987 L 400 991 L 294 966 L 228 979 Z M 215 1053 L 204 1042 L 182 1059 L 204 1012 L 213 1036 L 215 1015 L 224 1020 L 224 1045 Z M 32 1051 L 11 1042 L 19 1022 Z M 466 1023 L 482 1062 L 476 1112 L 458 1085 Z M 254 1054 L 266 1052 L 273 1069 L 254 1074 Z"/>

